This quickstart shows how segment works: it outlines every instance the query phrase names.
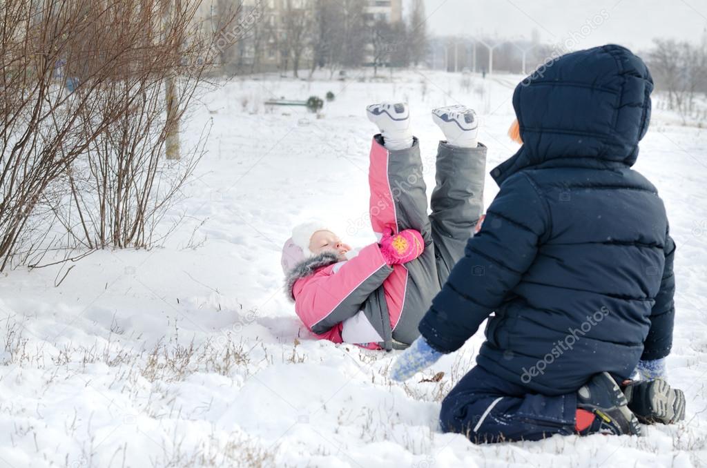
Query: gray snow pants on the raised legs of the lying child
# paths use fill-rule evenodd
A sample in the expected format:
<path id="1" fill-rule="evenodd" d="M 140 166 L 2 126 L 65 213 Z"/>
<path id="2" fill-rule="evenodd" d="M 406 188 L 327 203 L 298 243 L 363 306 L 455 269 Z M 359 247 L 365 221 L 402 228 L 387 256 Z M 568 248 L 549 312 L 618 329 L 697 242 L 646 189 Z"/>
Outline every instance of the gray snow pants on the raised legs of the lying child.
<path id="1" fill-rule="evenodd" d="M 380 135 L 375 136 L 375 140 L 382 144 Z M 409 149 L 387 151 L 387 156 L 387 184 L 395 216 L 386 221 L 391 213 L 385 209 L 389 206 L 386 201 L 381 205 L 379 216 L 372 213 L 374 230 L 376 226 L 380 228 L 382 224 L 395 222 L 399 230 L 418 230 L 425 243 L 422 255 L 396 268 L 387 279 L 390 287 L 404 291 L 402 309 L 390 311 L 394 324 L 392 339 L 410 344 L 419 337 L 420 320 L 450 269 L 464 255 L 464 247 L 481 215 L 486 147 L 455 148 L 440 143 L 429 216 L 419 141 L 414 139 Z M 373 157 L 378 161 L 378 156 Z M 379 195 L 373 193 L 372 206 L 376 201 L 386 200 Z"/>

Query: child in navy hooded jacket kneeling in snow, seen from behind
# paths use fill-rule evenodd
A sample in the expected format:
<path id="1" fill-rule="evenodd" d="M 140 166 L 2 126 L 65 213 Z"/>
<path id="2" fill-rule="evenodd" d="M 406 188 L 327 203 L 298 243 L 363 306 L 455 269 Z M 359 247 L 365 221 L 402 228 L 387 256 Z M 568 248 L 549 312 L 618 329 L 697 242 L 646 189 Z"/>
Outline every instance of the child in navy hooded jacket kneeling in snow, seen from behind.
<path id="1" fill-rule="evenodd" d="M 491 171 L 500 191 L 483 226 L 391 370 L 411 377 L 495 312 L 477 366 L 442 403 L 443 431 L 638 435 L 637 417 L 684 418 L 663 362 L 675 245 L 655 187 L 631 169 L 651 90 L 643 61 L 617 45 L 566 54 L 515 88 L 522 146 Z M 654 380 L 627 381 L 637 366 Z"/>

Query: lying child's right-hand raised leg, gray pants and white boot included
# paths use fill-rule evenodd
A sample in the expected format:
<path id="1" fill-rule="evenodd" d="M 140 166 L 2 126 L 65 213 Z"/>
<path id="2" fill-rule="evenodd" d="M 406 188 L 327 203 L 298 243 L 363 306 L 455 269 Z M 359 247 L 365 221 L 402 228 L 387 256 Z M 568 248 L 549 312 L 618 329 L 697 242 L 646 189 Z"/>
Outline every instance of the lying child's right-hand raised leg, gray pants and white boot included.
<path id="1" fill-rule="evenodd" d="M 464 106 L 440 107 L 433 119 L 445 134 L 437 150 L 430 215 L 440 287 L 464 256 L 484 210 L 486 146 L 477 143 L 478 119 Z"/>

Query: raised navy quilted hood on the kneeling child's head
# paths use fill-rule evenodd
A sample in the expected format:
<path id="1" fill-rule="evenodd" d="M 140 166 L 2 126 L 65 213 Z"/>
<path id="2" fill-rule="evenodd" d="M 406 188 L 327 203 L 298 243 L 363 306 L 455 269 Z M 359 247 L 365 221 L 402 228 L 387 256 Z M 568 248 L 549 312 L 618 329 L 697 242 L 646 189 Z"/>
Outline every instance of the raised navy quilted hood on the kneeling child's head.
<path id="1" fill-rule="evenodd" d="M 530 167 L 630 167 L 650 122 L 653 78 L 626 47 L 565 54 L 515 87 L 523 141 L 491 176 L 501 185 Z"/>

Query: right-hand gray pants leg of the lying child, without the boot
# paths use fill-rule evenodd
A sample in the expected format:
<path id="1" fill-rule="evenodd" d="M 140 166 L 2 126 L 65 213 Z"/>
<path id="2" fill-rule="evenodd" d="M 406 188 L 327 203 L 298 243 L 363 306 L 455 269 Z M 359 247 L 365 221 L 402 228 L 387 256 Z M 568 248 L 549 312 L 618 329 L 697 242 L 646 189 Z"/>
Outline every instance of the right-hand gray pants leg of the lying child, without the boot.
<path id="1" fill-rule="evenodd" d="M 467 240 L 484 211 L 485 176 L 486 146 L 458 148 L 440 141 L 430 215 L 440 288 L 464 257 Z"/>

